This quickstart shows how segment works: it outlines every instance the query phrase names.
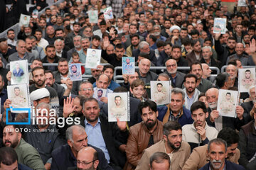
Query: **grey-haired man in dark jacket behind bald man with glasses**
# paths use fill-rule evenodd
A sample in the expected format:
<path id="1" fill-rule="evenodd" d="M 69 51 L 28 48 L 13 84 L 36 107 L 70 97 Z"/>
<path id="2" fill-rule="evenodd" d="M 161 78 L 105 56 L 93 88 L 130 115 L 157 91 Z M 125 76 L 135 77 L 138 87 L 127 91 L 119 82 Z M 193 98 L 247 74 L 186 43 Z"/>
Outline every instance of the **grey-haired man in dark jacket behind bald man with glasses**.
<path id="1" fill-rule="evenodd" d="M 87 144 L 87 134 L 85 128 L 81 125 L 73 125 L 66 130 L 68 144 L 62 145 L 52 152 L 52 164 L 50 169 L 68 169 L 68 167 L 77 166 L 77 157 L 80 149 L 93 147 L 98 153 L 99 168 L 112 169 L 105 158 L 101 149 Z"/>

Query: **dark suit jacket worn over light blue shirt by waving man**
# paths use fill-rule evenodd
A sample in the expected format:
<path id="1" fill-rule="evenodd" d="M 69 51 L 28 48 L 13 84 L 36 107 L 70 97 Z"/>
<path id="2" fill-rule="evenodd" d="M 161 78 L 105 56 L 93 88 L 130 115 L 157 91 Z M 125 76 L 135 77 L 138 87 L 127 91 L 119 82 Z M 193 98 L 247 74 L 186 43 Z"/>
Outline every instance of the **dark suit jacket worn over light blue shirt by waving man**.
<path id="1" fill-rule="evenodd" d="M 81 125 L 85 127 L 85 117 L 82 118 Z M 99 118 L 102 136 L 110 154 L 110 163 L 123 168 L 126 162 L 126 155 L 119 151 L 119 146 L 127 143 L 128 130 L 121 132 L 116 123 L 109 123 L 107 117 L 102 113 L 100 113 Z"/>

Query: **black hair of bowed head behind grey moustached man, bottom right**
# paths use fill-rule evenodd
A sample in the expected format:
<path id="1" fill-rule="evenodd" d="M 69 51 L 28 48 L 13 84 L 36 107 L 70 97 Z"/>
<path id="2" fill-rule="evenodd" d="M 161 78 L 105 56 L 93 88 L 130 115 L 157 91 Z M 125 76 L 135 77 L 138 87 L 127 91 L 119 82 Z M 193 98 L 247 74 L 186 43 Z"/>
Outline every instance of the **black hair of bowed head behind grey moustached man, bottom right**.
<path id="1" fill-rule="evenodd" d="M 232 128 L 223 128 L 220 130 L 217 137 L 225 140 L 225 142 L 228 144 L 228 147 L 239 142 L 239 135 Z"/>

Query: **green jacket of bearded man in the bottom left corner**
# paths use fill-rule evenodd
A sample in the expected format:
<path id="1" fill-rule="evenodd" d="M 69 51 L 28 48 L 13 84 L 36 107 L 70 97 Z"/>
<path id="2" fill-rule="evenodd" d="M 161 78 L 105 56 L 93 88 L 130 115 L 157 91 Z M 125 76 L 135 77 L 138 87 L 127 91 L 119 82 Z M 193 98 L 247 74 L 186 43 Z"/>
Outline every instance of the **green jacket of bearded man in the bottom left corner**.
<path id="1" fill-rule="evenodd" d="M 19 164 L 24 164 L 31 169 L 45 170 L 40 154 L 38 154 L 37 150 L 29 145 L 22 138 L 21 141 L 18 143 L 18 146 L 15 148 L 15 151 L 18 154 Z"/>

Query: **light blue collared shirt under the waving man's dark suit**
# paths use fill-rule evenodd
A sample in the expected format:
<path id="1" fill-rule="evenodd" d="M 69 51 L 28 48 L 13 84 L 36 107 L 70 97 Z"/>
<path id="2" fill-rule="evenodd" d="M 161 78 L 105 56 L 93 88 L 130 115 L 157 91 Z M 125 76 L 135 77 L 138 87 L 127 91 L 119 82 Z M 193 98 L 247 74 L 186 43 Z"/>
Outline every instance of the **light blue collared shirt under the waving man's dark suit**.
<path id="1" fill-rule="evenodd" d="M 92 126 L 85 119 L 85 132 L 88 135 L 88 143 L 90 143 L 90 145 L 93 145 L 95 147 L 99 147 L 100 149 L 102 149 L 107 159 L 107 162 L 110 163 L 110 154 L 107 151 L 107 147 L 102 135 L 100 124 L 101 124 L 100 118 L 98 118 L 97 124 L 95 126 Z"/>

